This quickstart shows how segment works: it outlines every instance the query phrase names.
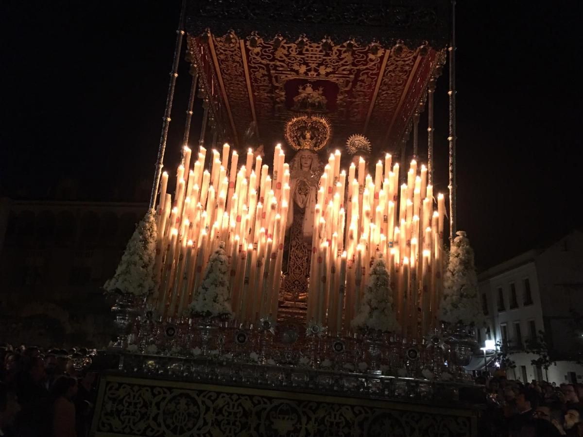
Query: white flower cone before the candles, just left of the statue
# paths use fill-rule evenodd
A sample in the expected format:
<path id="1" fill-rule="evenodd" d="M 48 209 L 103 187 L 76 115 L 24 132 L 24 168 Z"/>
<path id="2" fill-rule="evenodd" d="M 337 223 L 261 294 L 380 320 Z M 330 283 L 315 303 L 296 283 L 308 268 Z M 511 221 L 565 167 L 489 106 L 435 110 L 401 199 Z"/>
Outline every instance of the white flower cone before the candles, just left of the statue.
<path id="1" fill-rule="evenodd" d="M 210 256 L 201 286 L 196 291 L 189 311 L 194 316 L 233 316 L 229 291 L 229 263 L 224 243 Z"/>

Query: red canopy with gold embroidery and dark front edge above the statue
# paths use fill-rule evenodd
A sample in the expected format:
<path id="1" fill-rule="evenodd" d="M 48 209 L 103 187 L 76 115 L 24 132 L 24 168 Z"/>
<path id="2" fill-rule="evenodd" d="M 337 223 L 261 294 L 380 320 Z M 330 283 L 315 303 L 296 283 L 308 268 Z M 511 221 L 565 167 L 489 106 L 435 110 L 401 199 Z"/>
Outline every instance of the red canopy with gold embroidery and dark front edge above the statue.
<path id="1" fill-rule="evenodd" d="M 392 149 L 445 60 L 448 0 L 190 1 L 189 56 L 223 135 L 283 140 L 298 114 L 325 115 Z"/>

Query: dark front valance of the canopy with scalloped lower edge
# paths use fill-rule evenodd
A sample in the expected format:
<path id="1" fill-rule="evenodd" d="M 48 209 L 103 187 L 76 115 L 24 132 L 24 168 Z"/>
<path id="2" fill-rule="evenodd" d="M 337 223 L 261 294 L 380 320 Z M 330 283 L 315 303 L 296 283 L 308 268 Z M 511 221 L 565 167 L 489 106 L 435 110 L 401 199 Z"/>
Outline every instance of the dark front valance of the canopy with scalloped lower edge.
<path id="1" fill-rule="evenodd" d="M 270 39 L 305 35 L 314 41 L 355 38 L 389 46 L 402 40 L 409 47 L 427 40 L 441 48 L 447 44 L 448 11 L 448 0 L 189 0 L 186 27 L 194 36 L 206 29 L 219 35 L 259 31 Z"/>

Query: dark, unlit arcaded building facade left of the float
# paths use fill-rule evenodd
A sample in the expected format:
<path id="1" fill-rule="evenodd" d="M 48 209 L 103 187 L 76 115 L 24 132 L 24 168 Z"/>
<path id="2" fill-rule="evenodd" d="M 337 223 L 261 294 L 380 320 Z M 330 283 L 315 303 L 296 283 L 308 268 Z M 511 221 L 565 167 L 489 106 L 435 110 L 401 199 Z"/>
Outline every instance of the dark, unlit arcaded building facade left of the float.
<path id="1" fill-rule="evenodd" d="M 111 303 L 101 287 L 147 205 L 0 202 L 0 341 L 103 346 Z"/>

